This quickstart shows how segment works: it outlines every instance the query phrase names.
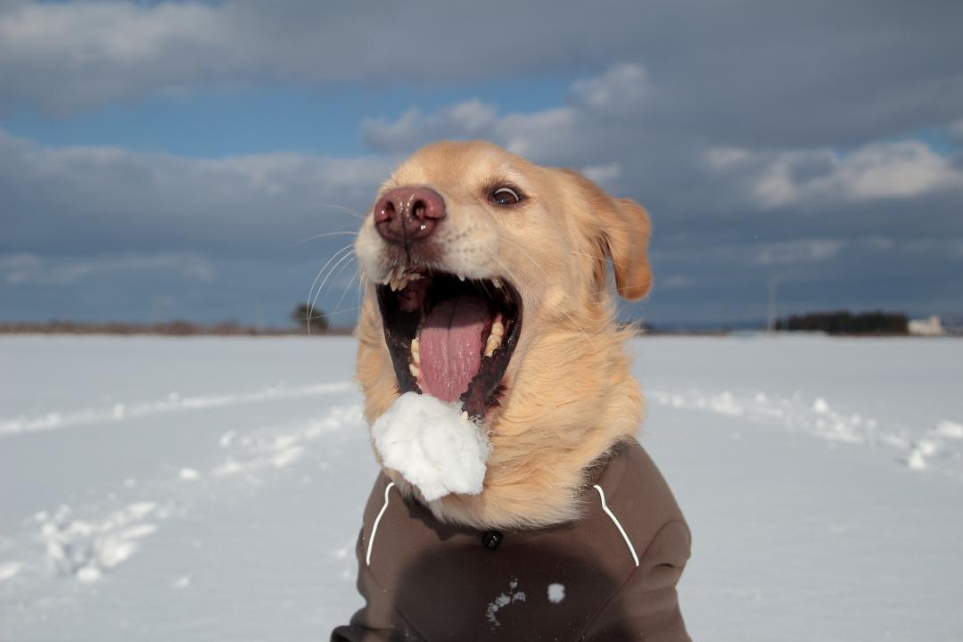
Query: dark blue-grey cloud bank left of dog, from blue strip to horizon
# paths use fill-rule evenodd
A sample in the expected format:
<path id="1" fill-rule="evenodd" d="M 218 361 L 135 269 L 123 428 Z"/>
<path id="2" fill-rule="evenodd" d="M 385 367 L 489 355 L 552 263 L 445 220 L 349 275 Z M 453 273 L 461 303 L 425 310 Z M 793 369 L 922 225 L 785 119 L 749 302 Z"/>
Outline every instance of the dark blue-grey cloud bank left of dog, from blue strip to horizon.
<path id="1" fill-rule="evenodd" d="M 194 159 L 0 131 L 0 319 L 252 323 L 263 311 L 285 324 L 388 171 L 367 157 Z M 318 299 L 347 311 L 338 323 L 355 316 L 352 275 L 347 261 Z"/>

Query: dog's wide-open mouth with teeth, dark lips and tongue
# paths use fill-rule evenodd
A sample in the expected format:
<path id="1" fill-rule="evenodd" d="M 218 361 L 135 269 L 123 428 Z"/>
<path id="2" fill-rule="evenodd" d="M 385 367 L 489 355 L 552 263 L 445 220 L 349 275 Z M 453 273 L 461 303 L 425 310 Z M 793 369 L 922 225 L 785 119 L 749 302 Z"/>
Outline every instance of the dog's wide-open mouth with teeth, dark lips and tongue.
<path id="1" fill-rule="evenodd" d="M 396 270 L 377 286 L 377 301 L 402 394 L 460 400 L 469 417 L 481 421 L 498 403 L 518 343 L 518 291 L 499 278 Z"/>

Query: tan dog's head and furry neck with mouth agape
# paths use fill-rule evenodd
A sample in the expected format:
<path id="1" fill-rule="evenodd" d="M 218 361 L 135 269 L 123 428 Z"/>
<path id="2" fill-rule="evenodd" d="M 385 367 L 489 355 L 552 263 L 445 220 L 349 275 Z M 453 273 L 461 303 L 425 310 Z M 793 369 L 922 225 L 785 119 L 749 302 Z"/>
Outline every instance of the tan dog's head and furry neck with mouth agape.
<path id="1" fill-rule="evenodd" d="M 492 443 L 474 500 L 489 517 L 459 513 L 473 500 L 457 497 L 436 512 L 505 523 L 492 516 L 518 512 L 501 491 L 519 475 L 582 470 L 635 432 L 641 398 L 606 280 L 611 262 L 619 295 L 646 295 L 649 234 L 635 202 L 488 142 L 431 144 L 382 186 L 355 243 L 366 416 L 417 391 L 460 401 Z M 578 485 L 578 471 L 567 477 L 555 482 Z M 545 520 L 508 518 L 519 521 Z"/>

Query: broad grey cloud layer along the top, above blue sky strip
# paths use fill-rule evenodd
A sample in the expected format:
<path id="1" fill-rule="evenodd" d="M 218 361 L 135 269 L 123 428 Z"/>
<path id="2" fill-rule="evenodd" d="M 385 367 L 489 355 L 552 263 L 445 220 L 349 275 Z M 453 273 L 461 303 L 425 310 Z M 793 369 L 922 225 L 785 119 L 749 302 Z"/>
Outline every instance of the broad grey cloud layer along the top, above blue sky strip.
<path id="1" fill-rule="evenodd" d="M 960 117 L 961 21 L 960 3 L 925 3 L 908 19 L 898 3 L 872 0 L 612 0 L 591 12 L 549 0 L 403 10 L 9 0 L 0 110 L 72 114 L 212 88 L 430 89 L 608 69 L 576 84 L 570 104 L 599 119 L 645 115 L 650 127 L 712 146 L 850 145 Z"/>

